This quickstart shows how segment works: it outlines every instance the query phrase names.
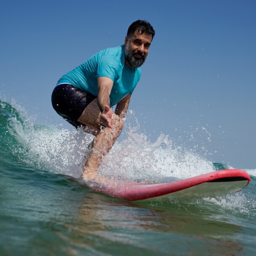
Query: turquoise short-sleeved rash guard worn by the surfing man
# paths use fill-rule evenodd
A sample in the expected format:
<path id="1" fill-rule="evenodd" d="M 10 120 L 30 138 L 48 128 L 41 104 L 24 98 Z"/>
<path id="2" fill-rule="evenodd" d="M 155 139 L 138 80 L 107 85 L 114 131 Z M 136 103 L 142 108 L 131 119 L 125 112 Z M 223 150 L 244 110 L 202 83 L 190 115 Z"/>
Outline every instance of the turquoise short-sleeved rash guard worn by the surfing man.
<path id="1" fill-rule="evenodd" d="M 110 107 L 128 94 L 132 94 L 141 77 L 141 68 L 128 68 L 125 64 L 123 45 L 107 48 L 93 55 L 80 66 L 61 77 L 57 85 L 71 84 L 80 90 L 98 95 L 97 77 L 109 77 L 113 81 Z"/>

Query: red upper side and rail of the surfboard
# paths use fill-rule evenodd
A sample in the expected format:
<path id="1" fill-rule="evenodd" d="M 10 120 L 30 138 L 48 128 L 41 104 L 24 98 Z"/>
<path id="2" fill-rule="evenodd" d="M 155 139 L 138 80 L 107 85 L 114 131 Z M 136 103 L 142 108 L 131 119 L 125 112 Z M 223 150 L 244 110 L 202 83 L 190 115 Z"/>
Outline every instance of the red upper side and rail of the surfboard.
<path id="1" fill-rule="evenodd" d="M 245 171 L 239 169 L 227 169 L 214 171 L 211 173 L 202 174 L 199 176 L 182 179 L 178 181 L 173 181 L 169 183 L 136 183 L 136 182 L 115 182 L 114 184 L 100 184 L 92 188 L 97 192 L 101 192 L 105 195 L 109 195 L 115 198 L 120 198 L 128 201 L 146 200 L 152 197 L 161 197 L 165 195 L 172 194 L 174 192 L 179 192 L 184 189 L 189 189 L 200 184 L 209 185 L 211 187 L 217 187 L 217 183 L 224 184 L 234 184 L 232 187 L 229 186 L 226 194 L 229 192 L 237 192 L 246 187 L 250 182 L 250 176 Z M 192 192 L 193 193 L 193 192 Z M 191 192 L 190 192 L 190 195 Z M 211 195 L 209 195 L 210 197 Z"/>

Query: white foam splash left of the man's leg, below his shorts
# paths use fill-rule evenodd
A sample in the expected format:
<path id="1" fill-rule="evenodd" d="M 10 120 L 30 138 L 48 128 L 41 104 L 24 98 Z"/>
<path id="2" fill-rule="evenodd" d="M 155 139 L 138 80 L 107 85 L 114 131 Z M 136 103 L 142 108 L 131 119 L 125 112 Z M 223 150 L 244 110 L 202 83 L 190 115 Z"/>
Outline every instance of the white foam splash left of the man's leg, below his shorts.
<path id="1" fill-rule="evenodd" d="M 81 175 L 92 136 L 81 130 L 59 129 L 51 125 L 24 127 L 17 120 L 11 120 L 11 123 L 13 134 L 22 143 L 22 147 L 13 152 L 18 153 L 22 162 L 53 173 Z"/>

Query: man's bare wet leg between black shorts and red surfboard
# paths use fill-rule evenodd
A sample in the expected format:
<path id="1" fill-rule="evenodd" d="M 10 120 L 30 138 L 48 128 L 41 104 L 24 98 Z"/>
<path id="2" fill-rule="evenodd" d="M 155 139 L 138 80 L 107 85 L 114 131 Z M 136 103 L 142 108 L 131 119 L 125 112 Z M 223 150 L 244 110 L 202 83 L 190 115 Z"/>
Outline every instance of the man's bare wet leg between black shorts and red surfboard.
<path id="1" fill-rule="evenodd" d="M 102 158 L 115 144 L 123 128 L 123 120 L 113 113 L 112 127 L 99 127 L 100 110 L 97 99 L 93 100 L 79 117 L 78 121 L 96 128 L 96 137 L 93 141 L 92 151 L 85 163 L 82 177 L 86 180 L 97 178 L 96 171 L 99 168 Z M 86 130 L 85 130 L 86 131 Z M 99 176 L 98 176 L 99 177 Z"/>

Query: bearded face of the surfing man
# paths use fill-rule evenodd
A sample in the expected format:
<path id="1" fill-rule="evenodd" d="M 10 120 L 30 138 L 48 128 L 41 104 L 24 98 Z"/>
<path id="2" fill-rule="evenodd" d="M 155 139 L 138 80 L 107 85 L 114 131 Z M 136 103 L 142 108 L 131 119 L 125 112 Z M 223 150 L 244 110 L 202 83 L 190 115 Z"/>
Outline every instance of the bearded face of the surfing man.
<path id="1" fill-rule="evenodd" d="M 125 37 L 125 63 L 128 67 L 140 67 L 146 60 L 152 35 L 136 31 L 130 38 Z"/>

